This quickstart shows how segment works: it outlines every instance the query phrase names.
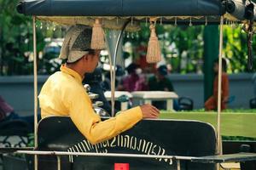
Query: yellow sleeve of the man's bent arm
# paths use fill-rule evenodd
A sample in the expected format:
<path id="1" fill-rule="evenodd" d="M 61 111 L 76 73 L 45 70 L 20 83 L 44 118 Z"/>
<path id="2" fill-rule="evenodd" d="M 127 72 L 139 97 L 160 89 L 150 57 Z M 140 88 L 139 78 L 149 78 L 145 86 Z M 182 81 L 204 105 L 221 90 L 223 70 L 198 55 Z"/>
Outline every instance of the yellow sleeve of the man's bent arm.
<path id="1" fill-rule="evenodd" d="M 119 133 L 133 127 L 143 118 L 140 107 L 135 107 L 102 122 L 101 117 L 96 115 L 93 110 L 90 98 L 85 91 L 69 94 L 73 96 L 69 96 L 69 101 L 67 101 L 67 105 L 70 108 L 70 117 L 76 127 L 78 127 L 80 133 L 91 144 L 112 139 Z"/>

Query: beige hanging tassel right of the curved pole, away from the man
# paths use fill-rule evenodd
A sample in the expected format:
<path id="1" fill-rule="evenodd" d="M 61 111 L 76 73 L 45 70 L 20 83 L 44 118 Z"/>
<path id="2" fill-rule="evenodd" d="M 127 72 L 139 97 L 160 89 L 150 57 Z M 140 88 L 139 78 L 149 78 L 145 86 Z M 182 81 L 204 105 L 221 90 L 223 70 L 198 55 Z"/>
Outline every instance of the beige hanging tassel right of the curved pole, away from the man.
<path id="1" fill-rule="evenodd" d="M 161 60 L 160 44 L 155 33 L 155 21 L 150 22 L 150 38 L 148 42 L 147 62 L 157 63 Z"/>

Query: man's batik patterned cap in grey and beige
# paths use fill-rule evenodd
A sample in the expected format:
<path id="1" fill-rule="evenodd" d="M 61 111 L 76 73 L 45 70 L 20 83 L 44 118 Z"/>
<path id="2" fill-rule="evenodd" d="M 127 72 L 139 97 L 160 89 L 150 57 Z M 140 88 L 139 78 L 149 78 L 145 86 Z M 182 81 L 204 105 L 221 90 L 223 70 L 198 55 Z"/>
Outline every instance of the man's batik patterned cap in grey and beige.
<path id="1" fill-rule="evenodd" d="M 76 25 L 69 28 L 61 47 L 60 59 L 73 63 L 90 50 L 92 30 L 89 26 Z"/>

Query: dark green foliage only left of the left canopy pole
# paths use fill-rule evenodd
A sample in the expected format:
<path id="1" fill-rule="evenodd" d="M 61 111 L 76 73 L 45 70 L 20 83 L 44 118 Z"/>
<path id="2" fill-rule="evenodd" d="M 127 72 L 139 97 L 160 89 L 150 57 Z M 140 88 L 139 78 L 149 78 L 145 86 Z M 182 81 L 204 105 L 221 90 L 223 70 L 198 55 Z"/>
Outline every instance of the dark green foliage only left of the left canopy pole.
<path id="1" fill-rule="evenodd" d="M 14 10 L 17 0 L 0 1 L 0 56 L 1 74 L 29 74 L 32 65 L 23 51 L 31 49 L 32 29 L 28 17 Z"/>

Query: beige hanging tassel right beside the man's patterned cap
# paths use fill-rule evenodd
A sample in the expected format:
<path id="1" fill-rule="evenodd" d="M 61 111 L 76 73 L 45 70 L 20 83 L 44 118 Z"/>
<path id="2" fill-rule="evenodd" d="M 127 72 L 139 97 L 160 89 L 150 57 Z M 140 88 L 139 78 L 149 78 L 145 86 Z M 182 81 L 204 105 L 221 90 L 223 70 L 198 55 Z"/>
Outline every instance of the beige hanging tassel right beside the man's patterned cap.
<path id="1" fill-rule="evenodd" d="M 95 23 L 92 28 L 90 48 L 92 48 L 92 49 L 106 48 L 106 43 L 105 43 L 105 39 L 104 39 L 104 31 L 102 29 L 102 24 L 99 19 L 95 20 Z"/>

